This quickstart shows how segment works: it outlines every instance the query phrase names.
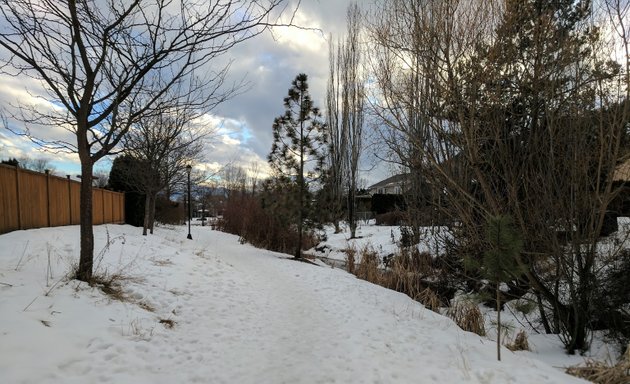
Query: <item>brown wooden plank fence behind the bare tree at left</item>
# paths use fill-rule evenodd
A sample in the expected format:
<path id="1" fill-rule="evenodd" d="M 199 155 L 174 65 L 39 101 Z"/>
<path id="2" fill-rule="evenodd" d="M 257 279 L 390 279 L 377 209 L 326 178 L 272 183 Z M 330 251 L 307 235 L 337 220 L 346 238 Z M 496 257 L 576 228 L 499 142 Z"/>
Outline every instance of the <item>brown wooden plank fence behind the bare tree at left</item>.
<path id="1" fill-rule="evenodd" d="M 0 164 L 0 233 L 79 224 L 81 183 Z M 94 188 L 92 222 L 123 223 L 125 194 Z"/>

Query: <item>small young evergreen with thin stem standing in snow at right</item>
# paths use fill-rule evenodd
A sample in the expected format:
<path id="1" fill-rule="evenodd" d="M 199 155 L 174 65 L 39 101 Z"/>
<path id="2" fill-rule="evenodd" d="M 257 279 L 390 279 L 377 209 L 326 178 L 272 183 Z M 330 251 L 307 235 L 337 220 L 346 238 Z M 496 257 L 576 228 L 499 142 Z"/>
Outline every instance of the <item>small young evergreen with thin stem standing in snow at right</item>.
<path id="1" fill-rule="evenodd" d="M 496 286 L 497 300 L 497 360 L 501 360 L 501 283 L 521 275 L 517 257 L 523 241 L 514 229 L 510 216 L 495 216 L 488 220 L 486 237 L 489 244 L 483 257 L 482 271 Z"/>

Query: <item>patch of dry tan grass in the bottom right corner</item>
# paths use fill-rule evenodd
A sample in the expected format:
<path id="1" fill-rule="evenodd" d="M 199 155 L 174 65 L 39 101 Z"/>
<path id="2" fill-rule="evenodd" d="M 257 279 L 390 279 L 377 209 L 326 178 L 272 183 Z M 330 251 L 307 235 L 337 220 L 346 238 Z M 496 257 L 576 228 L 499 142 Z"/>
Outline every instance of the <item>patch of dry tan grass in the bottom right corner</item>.
<path id="1" fill-rule="evenodd" d="M 567 373 L 596 384 L 630 383 L 630 346 L 617 364 L 589 360 L 584 365 L 569 367 Z"/>

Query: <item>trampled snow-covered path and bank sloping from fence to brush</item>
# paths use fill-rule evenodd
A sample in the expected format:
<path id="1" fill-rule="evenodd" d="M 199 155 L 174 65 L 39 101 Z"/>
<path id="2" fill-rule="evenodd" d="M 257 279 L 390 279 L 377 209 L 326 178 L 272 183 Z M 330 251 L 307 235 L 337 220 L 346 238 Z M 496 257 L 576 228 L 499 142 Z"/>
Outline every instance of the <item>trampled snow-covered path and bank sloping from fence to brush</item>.
<path id="1" fill-rule="evenodd" d="M 122 277 L 124 301 L 65 277 L 78 227 L 0 236 L 0 383 L 582 382 L 531 352 L 498 362 L 491 340 L 402 294 L 209 227 L 95 233 L 96 272 Z"/>

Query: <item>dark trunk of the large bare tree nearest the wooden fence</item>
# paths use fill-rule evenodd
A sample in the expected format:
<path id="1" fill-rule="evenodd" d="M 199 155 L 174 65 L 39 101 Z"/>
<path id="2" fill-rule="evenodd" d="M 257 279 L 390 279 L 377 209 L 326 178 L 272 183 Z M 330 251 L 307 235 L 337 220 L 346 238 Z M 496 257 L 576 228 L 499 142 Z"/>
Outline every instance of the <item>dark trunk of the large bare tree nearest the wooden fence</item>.
<path id="1" fill-rule="evenodd" d="M 87 158 L 86 158 L 87 157 Z M 92 159 L 81 158 L 81 198 L 80 198 L 80 244 L 79 269 L 76 278 L 81 281 L 92 280 L 94 264 L 94 229 L 92 228 Z"/>

